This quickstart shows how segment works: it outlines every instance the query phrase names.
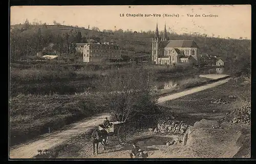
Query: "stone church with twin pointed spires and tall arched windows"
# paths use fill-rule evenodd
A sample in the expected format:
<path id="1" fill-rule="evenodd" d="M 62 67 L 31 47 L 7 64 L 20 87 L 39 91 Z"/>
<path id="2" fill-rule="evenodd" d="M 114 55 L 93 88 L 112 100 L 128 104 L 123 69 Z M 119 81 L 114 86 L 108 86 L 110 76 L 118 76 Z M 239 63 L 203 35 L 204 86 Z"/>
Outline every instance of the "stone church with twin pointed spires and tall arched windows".
<path id="1" fill-rule="evenodd" d="M 169 40 L 164 25 L 163 36 L 159 36 L 158 26 L 152 39 L 153 64 L 172 65 L 177 63 L 199 64 L 198 45 L 194 40 Z"/>

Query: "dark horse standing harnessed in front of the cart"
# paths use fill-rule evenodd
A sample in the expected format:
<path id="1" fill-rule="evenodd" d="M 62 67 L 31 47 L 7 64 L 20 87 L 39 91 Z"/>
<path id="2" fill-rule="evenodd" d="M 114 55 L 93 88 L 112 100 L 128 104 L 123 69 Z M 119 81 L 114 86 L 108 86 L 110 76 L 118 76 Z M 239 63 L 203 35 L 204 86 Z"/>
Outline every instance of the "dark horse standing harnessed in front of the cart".
<path id="1" fill-rule="evenodd" d="M 96 144 L 96 154 L 98 154 L 98 145 L 99 143 L 103 143 L 103 150 L 105 150 L 106 147 L 106 139 L 107 139 L 108 132 L 106 130 L 99 131 L 97 128 L 95 128 L 92 132 L 91 138 L 93 143 L 93 155 L 95 153 L 95 144 Z"/>

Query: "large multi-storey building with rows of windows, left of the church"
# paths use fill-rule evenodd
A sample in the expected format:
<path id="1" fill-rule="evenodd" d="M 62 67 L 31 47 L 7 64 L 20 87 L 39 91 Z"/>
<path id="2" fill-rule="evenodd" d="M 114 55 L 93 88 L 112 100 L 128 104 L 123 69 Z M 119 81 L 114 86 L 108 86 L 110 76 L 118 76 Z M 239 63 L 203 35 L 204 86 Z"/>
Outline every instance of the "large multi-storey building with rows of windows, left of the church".
<path id="1" fill-rule="evenodd" d="M 108 59 L 120 59 L 121 49 L 118 45 L 104 43 L 87 43 L 83 46 L 83 62 L 103 62 Z"/>

